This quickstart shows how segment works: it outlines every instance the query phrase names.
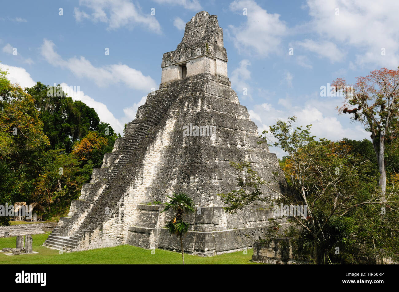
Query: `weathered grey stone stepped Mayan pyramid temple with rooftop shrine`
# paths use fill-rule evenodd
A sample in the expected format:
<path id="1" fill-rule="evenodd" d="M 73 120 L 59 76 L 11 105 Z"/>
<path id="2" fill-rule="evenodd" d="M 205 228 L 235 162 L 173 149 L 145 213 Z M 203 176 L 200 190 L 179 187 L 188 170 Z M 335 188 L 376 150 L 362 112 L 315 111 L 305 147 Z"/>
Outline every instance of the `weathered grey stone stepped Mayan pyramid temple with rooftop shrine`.
<path id="1" fill-rule="evenodd" d="M 240 173 L 230 161 L 250 161 L 281 190 L 277 156 L 259 134 L 227 78 L 227 53 L 217 16 L 202 11 L 186 24 L 175 51 L 162 57 L 159 89 L 151 92 L 136 119 L 126 125 L 112 153 L 94 169 L 79 200 L 59 220 L 44 245 L 81 251 L 116 245 L 179 250 L 164 226 L 167 195 L 185 191 L 196 212 L 187 216 L 187 253 L 207 256 L 251 247 L 273 216 L 270 208 L 249 206 L 228 214 L 217 194 L 237 189 Z M 241 174 L 242 175 L 242 174 Z M 273 195 L 269 188 L 265 195 Z"/>

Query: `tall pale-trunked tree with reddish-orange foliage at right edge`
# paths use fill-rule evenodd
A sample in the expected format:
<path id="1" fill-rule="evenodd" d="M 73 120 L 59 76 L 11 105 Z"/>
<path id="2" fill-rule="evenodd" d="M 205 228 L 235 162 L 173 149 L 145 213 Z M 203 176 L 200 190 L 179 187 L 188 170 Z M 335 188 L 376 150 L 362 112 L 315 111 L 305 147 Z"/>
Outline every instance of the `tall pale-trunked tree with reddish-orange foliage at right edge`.
<path id="1" fill-rule="evenodd" d="M 358 77 L 355 85 L 348 85 L 343 78 L 337 78 L 333 85 L 346 97 L 346 102 L 338 111 L 354 114 L 352 119 L 361 122 L 371 132 L 380 173 L 381 201 L 385 201 L 388 199 L 385 198 L 385 148 L 396 138 L 398 130 L 399 70 L 381 68 L 371 71 L 366 77 Z M 351 107 L 354 108 L 349 109 Z"/>

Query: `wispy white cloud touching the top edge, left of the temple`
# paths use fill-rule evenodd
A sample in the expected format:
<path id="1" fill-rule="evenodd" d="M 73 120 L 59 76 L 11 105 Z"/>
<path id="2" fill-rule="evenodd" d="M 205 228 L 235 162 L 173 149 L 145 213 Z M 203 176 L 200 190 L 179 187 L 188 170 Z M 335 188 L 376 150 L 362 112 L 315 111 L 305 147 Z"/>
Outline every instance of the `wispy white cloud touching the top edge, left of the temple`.
<path id="1" fill-rule="evenodd" d="M 80 0 L 79 5 L 92 10 L 91 14 L 74 8 L 73 14 L 77 22 L 90 19 L 92 22 L 104 22 L 108 29 L 120 27 L 132 28 L 134 25 L 142 25 L 151 31 L 161 33 L 161 26 L 152 16 L 150 11 L 141 12 L 130 0 Z"/>

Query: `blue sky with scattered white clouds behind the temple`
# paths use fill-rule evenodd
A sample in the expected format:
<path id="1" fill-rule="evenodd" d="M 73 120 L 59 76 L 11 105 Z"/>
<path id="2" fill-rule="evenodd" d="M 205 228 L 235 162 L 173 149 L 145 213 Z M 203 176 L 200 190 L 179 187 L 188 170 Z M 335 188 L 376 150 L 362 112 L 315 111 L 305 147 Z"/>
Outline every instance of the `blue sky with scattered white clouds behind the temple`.
<path id="1" fill-rule="evenodd" d="M 0 66 L 22 87 L 80 86 L 72 97 L 122 132 L 158 89 L 162 54 L 176 49 L 184 23 L 202 10 L 218 16 L 232 87 L 259 133 L 295 115 L 318 137 L 369 137 L 338 115 L 342 98 L 321 97 L 320 86 L 398 67 L 397 0 L 7 1 L 0 11 Z"/>

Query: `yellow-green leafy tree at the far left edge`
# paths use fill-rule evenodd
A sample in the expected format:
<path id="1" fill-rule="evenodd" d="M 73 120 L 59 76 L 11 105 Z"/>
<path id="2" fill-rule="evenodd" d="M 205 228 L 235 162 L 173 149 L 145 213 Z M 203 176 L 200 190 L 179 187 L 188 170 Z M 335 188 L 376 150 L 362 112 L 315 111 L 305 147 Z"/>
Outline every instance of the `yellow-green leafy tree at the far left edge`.
<path id="1" fill-rule="evenodd" d="M 13 204 L 34 192 L 38 161 L 49 145 L 34 99 L 0 71 L 0 204 Z M 0 217 L 7 225 L 9 218 Z"/>

